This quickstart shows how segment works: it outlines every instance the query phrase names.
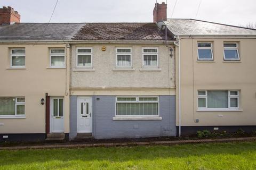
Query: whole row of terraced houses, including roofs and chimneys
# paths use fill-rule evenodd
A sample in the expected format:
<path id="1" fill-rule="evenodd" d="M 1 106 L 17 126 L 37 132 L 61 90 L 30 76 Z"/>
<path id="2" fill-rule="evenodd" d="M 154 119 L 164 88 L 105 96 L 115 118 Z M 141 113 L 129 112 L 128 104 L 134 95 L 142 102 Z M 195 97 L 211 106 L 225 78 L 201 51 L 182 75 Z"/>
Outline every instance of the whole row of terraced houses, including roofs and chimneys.
<path id="1" fill-rule="evenodd" d="M 254 130 L 256 30 L 166 19 L 165 3 L 153 16 L 20 23 L 1 8 L 0 141 Z"/>

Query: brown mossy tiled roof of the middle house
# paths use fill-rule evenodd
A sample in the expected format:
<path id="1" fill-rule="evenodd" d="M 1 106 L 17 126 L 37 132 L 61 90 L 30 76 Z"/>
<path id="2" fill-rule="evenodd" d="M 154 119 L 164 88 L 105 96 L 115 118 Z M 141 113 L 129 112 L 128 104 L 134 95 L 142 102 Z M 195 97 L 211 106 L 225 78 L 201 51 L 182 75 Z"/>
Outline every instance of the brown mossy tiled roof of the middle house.
<path id="1" fill-rule="evenodd" d="M 155 23 L 86 23 L 73 40 L 165 40 Z"/>

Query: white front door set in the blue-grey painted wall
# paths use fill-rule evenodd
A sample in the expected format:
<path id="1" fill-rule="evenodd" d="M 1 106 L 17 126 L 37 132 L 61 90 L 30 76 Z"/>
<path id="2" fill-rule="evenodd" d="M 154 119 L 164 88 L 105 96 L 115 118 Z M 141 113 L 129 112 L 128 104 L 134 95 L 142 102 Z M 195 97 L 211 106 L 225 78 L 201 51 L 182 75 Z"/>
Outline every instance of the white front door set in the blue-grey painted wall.
<path id="1" fill-rule="evenodd" d="M 77 100 L 77 133 L 92 132 L 92 98 L 79 97 Z"/>

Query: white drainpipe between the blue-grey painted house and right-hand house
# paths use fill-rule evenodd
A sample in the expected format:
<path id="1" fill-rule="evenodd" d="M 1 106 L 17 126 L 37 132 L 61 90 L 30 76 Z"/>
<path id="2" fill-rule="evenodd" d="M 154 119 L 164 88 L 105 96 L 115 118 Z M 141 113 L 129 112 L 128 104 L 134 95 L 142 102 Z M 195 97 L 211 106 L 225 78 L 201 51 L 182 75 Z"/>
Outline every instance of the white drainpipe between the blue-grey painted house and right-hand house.
<path id="1" fill-rule="evenodd" d="M 179 70 L 179 137 L 181 136 L 181 89 L 180 89 L 180 38 L 177 36 L 178 43 L 174 42 L 175 46 L 179 47 L 179 56 L 178 56 L 178 70 Z"/>

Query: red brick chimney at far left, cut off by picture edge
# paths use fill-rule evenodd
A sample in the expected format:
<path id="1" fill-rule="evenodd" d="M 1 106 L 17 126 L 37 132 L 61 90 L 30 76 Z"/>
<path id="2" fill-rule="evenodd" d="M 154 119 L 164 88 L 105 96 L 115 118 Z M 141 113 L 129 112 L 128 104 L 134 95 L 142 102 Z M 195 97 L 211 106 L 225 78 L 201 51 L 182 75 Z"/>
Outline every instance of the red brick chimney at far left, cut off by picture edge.
<path id="1" fill-rule="evenodd" d="M 0 25 L 10 25 L 20 22 L 20 14 L 14 11 L 11 6 L 0 8 Z"/>

